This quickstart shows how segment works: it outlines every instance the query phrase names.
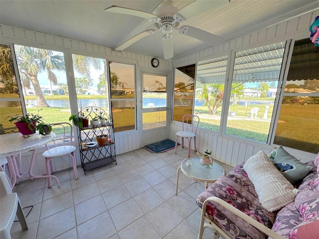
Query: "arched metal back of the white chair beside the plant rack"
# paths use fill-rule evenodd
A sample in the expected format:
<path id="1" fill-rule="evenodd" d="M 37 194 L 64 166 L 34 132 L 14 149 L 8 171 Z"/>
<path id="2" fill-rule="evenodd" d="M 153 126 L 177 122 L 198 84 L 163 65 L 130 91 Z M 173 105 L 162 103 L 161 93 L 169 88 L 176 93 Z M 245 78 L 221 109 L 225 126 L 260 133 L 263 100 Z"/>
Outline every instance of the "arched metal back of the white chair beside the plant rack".
<path id="1" fill-rule="evenodd" d="M 50 123 L 52 126 L 52 131 L 56 134 L 56 137 L 53 140 L 54 146 L 64 146 L 72 145 L 73 141 L 73 127 L 71 123 L 68 122 L 59 122 L 59 123 Z M 47 149 L 49 147 L 45 145 Z"/>

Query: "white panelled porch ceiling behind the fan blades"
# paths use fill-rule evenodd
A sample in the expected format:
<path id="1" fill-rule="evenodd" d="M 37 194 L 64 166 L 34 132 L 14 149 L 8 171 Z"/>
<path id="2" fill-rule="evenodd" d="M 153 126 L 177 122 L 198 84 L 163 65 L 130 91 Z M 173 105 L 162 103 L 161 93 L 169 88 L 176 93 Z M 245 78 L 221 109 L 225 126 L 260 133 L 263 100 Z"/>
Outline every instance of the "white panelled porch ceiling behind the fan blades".
<path id="1" fill-rule="evenodd" d="M 194 0 L 172 0 L 182 8 Z M 207 0 L 211 1 L 211 0 Z M 47 34 L 90 42 L 110 48 L 147 29 L 153 23 L 138 17 L 105 12 L 111 5 L 150 13 L 162 0 L 0 0 L 0 23 Z M 319 7 L 319 0 L 230 0 L 230 3 L 185 20 L 225 41 L 286 20 Z M 163 58 L 162 32 L 148 35 L 126 51 Z M 210 47 L 210 45 L 173 31 L 174 57 Z"/>

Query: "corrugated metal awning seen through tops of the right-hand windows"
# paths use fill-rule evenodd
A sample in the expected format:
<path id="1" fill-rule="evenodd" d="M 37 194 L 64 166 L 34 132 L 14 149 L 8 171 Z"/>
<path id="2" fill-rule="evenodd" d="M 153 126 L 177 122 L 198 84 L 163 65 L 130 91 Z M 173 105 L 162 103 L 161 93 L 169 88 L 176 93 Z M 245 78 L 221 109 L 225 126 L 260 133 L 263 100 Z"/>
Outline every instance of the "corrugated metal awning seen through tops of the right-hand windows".
<path id="1" fill-rule="evenodd" d="M 286 42 L 236 52 L 233 82 L 278 81 Z M 224 83 L 227 56 L 198 62 L 196 80 Z M 287 80 L 319 79 L 319 47 L 309 40 L 296 41 Z"/>

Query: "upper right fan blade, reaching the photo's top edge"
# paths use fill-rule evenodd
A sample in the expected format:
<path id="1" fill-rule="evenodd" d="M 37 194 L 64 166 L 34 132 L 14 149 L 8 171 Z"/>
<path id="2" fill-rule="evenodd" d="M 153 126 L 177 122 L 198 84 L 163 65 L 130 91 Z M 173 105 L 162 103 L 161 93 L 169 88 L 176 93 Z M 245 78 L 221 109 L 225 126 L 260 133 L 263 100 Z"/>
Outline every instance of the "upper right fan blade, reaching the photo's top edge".
<path id="1" fill-rule="evenodd" d="M 184 19 L 189 19 L 210 9 L 228 4 L 229 1 L 230 0 L 196 0 L 179 9 L 176 13 L 181 15 Z"/>

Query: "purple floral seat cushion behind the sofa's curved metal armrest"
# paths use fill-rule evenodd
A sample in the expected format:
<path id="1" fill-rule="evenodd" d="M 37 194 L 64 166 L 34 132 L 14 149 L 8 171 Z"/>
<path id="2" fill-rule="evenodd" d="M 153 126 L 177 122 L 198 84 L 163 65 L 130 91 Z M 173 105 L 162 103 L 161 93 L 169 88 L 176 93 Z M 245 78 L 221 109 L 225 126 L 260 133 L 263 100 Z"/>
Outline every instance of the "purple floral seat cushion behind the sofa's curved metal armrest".
<path id="1" fill-rule="evenodd" d="M 249 180 L 243 165 L 237 165 L 228 175 L 222 176 L 196 199 L 199 207 L 210 196 L 228 202 L 268 228 L 272 227 L 276 213 L 269 212 L 259 203 L 253 183 Z M 265 234 L 235 216 L 217 203 L 208 203 L 206 213 L 235 239 L 265 238 Z"/>

